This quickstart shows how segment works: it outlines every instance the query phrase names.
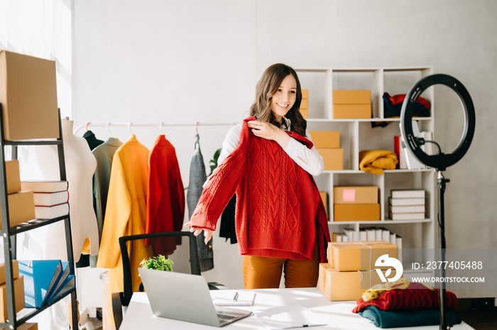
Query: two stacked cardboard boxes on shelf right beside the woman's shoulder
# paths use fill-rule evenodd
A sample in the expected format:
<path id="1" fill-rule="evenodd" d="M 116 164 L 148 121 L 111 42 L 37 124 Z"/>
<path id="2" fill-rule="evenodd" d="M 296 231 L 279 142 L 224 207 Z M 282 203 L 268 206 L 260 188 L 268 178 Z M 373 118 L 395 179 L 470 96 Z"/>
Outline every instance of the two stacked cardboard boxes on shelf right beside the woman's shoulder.
<path id="1" fill-rule="evenodd" d="M 312 143 L 323 157 L 325 171 L 344 169 L 344 149 L 340 148 L 340 132 L 315 130 L 309 132 Z"/>

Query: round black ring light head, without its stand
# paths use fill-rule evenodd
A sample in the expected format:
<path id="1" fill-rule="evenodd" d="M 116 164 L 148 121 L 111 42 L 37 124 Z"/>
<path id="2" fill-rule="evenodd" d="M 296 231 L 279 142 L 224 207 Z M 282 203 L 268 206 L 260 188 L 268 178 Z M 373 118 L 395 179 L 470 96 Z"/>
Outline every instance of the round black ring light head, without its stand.
<path id="1" fill-rule="evenodd" d="M 448 86 L 455 91 L 459 96 L 459 100 L 464 109 L 464 134 L 459 141 L 459 145 L 452 154 L 444 154 L 442 152 L 435 155 L 425 154 L 421 149 L 421 145 L 424 144 L 424 141 L 419 137 L 415 137 L 413 133 L 413 124 L 411 123 L 411 120 L 415 111 L 414 108 L 417 98 L 420 97 L 425 89 L 435 84 Z M 418 81 L 405 96 L 402 110 L 400 110 L 400 133 L 402 134 L 405 144 L 408 145 L 409 149 L 419 161 L 427 166 L 444 171 L 447 167 L 456 164 L 468 151 L 469 144 L 471 144 L 474 135 L 475 121 L 473 101 L 463 84 L 447 74 L 433 74 Z"/>

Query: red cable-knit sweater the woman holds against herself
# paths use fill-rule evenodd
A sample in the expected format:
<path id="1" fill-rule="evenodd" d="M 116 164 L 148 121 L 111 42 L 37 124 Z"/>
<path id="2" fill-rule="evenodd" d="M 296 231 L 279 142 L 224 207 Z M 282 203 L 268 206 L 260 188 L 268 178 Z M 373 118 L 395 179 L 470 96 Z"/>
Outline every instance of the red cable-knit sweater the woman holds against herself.
<path id="1" fill-rule="evenodd" d="M 256 137 L 244 120 L 240 143 L 207 182 L 190 219 L 192 227 L 216 229 L 236 193 L 235 229 L 242 255 L 312 259 L 316 239 L 326 262 L 329 229 L 314 178 L 280 145 Z M 290 137 L 312 148 L 295 132 Z"/>

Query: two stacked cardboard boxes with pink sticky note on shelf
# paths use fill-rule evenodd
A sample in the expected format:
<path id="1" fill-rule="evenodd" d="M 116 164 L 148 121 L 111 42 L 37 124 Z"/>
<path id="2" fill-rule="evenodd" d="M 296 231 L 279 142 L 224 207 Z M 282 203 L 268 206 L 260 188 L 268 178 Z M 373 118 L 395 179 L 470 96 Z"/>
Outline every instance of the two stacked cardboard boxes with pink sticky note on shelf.
<path id="1" fill-rule="evenodd" d="M 333 221 L 379 221 L 378 187 L 335 186 L 333 212 Z"/>

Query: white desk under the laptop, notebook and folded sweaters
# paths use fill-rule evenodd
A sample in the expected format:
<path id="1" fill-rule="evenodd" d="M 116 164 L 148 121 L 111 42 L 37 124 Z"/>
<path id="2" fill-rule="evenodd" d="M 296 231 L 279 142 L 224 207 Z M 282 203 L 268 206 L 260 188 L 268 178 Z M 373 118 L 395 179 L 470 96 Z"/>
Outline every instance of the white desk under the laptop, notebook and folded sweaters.
<path id="1" fill-rule="evenodd" d="M 237 290 L 212 290 L 212 297 L 223 295 L 229 292 L 228 296 L 234 295 Z M 240 290 L 238 290 L 240 291 Z M 312 329 L 380 329 L 374 326 L 368 319 L 361 317 L 359 314 L 352 313 L 356 302 L 330 302 L 317 288 L 306 289 L 263 289 L 253 290 L 256 292 L 255 304 L 252 307 L 234 307 L 257 311 L 268 307 L 281 305 L 302 305 L 319 315 L 324 321 L 328 322 L 327 326 L 314 326 Z M 232 292 L 232 293 L 231 293 Z M 195 312 L 195 311 L 192 311 Z M 202 324 L 187 323 L 176 321 L 174 319 L 164 319 L 155 317 L 148 303 L 145 292 L 135 292 L 131 298 L 129 307 L 124 315 L 123 323 L 119 330 L 153 330 L 153 329 L 214 329 L 212 326 Z M 232 324 L 222 327 L 222 329 L 263 329 L 263 325 L 258 322 L 256 317 L 250 316 L 241 319 Z M 390 328 L 391 330 L 438 330 L 439 326 L 417 326 L 411 328 Z M 468 324 L 458 324 L 454 330 L 473 329 Z"/>

